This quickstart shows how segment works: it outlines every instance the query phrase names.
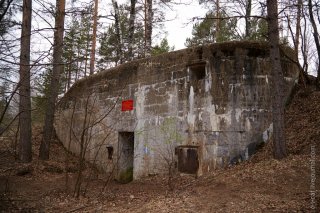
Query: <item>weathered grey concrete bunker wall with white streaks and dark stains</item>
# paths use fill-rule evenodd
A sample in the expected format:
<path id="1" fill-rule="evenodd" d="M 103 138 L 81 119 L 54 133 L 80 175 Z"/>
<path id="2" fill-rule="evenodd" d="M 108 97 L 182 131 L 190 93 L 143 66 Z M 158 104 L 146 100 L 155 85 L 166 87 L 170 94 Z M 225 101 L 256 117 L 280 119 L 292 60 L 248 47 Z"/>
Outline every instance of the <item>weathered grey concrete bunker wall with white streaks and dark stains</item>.
<path id="1" fill-rule="evenodd" d="M 83 141 L 88 160 L 120 175 L 119 132 L 134 132 L 134 178 L 166 172 L 176 146 L 197 148 L 198 174 L 245 159 L 272 128 L 268 54 L 261 43 L 212 44 L 90 76 L 60 101 L 57 135 L 76 153 Z M 288 93 L 297 69 L 282 63 Z M 123 100 L 134 109 L 121 111 Z"/>

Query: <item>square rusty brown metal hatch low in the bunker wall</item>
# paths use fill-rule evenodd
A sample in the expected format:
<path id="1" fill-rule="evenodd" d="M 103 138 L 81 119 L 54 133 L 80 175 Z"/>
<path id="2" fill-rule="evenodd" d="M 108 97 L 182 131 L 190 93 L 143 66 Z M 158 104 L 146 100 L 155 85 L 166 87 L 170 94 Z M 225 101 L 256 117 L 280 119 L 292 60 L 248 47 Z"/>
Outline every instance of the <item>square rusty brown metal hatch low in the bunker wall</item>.
<path id="1" fill-rule="evenodd" d="M 199 147 L 178 146 L 178 171 L 187 174 L 196 174 L 199 169 Z"/>

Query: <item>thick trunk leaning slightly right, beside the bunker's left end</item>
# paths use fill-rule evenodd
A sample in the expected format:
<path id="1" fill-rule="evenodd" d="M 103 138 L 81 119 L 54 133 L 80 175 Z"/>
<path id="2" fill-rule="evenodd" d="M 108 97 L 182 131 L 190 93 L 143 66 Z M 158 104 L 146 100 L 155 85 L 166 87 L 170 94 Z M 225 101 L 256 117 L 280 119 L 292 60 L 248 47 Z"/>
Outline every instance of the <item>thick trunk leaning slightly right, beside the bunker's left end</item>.
<path id="1" fill-rule="evenodd" d="M 65 0 L 57 0 L 57 11 L 55 17 L 54 46 L 53 46 L 53 70 L 46 106 L 45 124 L 43 138 L 40 145 L 39 157 L 41 160 L 49 159 L 50 142 L 53 136 L 53 121 L 56 99 L 59 93 L 60 73 L 63 71 L 63 32 L 65 17 Z"/>

